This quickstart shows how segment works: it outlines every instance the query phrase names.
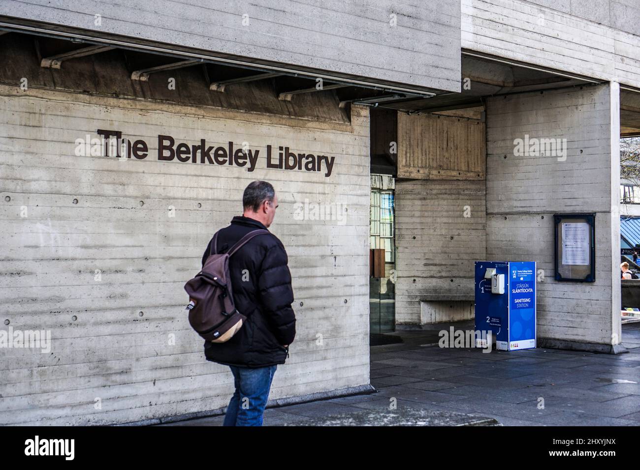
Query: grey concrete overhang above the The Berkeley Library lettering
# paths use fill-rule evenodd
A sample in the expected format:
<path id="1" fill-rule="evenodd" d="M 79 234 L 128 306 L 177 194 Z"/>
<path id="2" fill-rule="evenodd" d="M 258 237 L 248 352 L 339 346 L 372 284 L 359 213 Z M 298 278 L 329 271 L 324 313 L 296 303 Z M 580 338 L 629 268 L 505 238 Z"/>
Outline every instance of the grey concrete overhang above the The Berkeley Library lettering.
<path id="1" fill-rule="evenodd" d="M 460 91 L 460 0 L 4 0 L 0 15 Z"/>

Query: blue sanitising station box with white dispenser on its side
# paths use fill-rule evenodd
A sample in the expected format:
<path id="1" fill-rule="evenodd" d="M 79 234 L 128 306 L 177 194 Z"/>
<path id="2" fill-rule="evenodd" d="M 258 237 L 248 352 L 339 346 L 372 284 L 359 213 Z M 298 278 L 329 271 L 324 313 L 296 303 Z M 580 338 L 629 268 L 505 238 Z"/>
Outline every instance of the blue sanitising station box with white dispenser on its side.
<path id="1" fill-rule="evenodd" d="M 476 261 L 476 331 L 495 349 L 536 347 L 536 263 Z"/>

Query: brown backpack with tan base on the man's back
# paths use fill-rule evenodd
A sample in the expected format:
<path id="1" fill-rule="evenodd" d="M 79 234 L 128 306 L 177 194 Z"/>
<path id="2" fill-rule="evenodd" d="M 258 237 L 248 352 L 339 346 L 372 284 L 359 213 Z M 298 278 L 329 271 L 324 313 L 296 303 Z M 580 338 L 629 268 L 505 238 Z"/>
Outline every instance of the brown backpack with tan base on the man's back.
<path id="1" fill-rule="evenodd" d="M 256 235 L 270 233 L 253 230 L 244 235 L 227 253 L 218 254 L 218 232 L 213 236 L 211 253 L 202 270 L 184 285 L 189 294 L 189 324 L 202 338 L 212 343 L 224 343 L 236 334 L 246 317 L 234 305 L 229 258 Z"/>

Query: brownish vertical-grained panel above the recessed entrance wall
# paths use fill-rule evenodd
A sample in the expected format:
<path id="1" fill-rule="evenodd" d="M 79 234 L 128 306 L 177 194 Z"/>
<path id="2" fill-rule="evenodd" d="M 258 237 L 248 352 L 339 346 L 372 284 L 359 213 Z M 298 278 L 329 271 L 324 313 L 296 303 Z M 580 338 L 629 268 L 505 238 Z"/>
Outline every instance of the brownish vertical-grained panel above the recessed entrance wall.
<path id="1" fill-rule="evenodd" d="M 483 180 L 482 121 L 398 113 L 398 178 Z"/>

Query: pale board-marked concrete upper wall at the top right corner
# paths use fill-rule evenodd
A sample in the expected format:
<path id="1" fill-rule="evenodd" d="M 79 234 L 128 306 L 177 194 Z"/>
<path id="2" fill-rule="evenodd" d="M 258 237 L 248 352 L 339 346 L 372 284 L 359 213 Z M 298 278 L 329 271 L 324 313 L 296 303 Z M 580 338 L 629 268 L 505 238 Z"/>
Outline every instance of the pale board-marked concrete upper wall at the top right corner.
<path id="1" fill-rule="evenodd" d="M 553 3 L 561 11 L 535 3 L 462 0 L 462 47 L 640 87 L 640 37 L 616 29 L 619 22 L 616 27 L 594 22 L 600 16 L 600 0 L 572 0 L 571 13 L 562 11 L 567 0 L 539 2 Z M 635 15 L 626 17 L 636 33 L 637 12 L 636 6 Z"/>

